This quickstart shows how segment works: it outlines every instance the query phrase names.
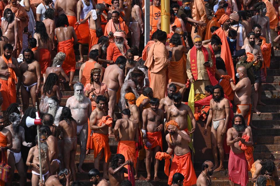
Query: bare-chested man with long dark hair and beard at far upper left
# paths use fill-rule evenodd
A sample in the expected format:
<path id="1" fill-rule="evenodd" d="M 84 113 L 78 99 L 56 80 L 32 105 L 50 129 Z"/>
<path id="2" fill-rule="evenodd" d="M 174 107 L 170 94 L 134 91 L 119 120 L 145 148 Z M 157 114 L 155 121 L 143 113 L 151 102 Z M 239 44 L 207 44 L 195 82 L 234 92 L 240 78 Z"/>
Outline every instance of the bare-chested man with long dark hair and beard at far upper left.
<path id="1" fill-rule="evenodd" d="M 15 20 L 15 15 L 10 8 L 4 10 L 3 21 L 1 22 L 1 29 L 3 36 L 8 38 L 8 43 L 13 46 L 13 57 L 15 57 L 15 51 L 17 50 L 18 37 L 18 22 Z"/>

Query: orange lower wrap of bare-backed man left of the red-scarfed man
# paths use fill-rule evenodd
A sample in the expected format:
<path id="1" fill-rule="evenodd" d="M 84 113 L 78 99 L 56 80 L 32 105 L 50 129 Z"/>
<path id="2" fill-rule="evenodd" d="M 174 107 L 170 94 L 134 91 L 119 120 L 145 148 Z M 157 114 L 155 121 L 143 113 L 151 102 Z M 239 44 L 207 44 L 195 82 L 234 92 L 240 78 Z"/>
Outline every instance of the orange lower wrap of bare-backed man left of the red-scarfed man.
<path id="1" fill-rule="evenodd" d="M 178 83 L 183 83 L 185 84 L 185 79 L 186 79 L 186 70 L 182 68 L 184 66 L 184 60 L 183 56 L 179 61 L 170 61 L 168 65 L 168 78 L 170 82 L 178 82 Z M 179 86 L 177 86 L 177 90 L 180 89 Z"/>

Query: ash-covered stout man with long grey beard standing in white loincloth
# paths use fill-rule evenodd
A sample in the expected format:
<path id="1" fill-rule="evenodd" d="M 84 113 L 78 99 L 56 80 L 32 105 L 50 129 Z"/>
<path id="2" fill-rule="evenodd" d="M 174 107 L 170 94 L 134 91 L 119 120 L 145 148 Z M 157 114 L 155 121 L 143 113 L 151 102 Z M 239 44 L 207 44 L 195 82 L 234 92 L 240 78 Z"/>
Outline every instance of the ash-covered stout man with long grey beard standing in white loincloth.
<path id="1" fill-rule="evenodd" d="M 83 162 L 85 160 L 85 152 L 88 140 L 88 119 L 91 115 L 91 101 L 84 95 L 84 85 L 80 82 L 74 85 L 74 96 L 67 99 L 66 106 L 70 108 L 72 117 L 77 122 L 77 136 L 80 140 L 80 163 L 78 166 L 78 171 L 85 172 L 82 169 Z"/>

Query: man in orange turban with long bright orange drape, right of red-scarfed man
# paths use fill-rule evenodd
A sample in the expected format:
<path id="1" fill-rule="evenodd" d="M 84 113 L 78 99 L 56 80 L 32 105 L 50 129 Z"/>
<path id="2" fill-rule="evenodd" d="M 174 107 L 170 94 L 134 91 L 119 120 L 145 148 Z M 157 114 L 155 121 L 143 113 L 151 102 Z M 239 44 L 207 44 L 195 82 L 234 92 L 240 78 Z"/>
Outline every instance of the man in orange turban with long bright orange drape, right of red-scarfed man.
<path id="1" fill-rule="evenodd" d="M 225 30 L 226 31 L 229 30 L 230 17 L 228 15 L 223 14 L 219 20 L 219 24 L 221 24 L 222 27 L 216 30 L 215 34 L 220 37 L 222 42 L 221 58 L 225 62 L 225 68 L 227 70 L 227 74 L 235 81 L 234 66 L 230 53 L 230 47 L 227 42 L 227 36 L 225 35 Z"/>

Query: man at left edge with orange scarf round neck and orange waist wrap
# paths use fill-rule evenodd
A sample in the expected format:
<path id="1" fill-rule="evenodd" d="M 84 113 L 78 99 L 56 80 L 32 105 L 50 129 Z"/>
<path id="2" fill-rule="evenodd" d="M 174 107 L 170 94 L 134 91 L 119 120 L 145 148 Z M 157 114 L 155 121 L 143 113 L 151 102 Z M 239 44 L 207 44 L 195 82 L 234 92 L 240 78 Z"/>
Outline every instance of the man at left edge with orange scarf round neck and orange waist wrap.
<path id="1" fill-rule="evenodd" d="M 20 69 L 17 59 L 12 57 L 13 46 L 11 44 L 4 45 L 4 52 L 0 58 L 0 67 L 2 76 L 0 77 L 0 92 L 2 94 L 2 111 L 6 111 L 10 104 L 16 102 L 16 86 L 17 77 L 20 77 Z M 3 74 L 4 73 L 4 74 Z"/>

